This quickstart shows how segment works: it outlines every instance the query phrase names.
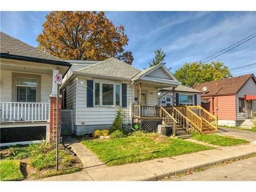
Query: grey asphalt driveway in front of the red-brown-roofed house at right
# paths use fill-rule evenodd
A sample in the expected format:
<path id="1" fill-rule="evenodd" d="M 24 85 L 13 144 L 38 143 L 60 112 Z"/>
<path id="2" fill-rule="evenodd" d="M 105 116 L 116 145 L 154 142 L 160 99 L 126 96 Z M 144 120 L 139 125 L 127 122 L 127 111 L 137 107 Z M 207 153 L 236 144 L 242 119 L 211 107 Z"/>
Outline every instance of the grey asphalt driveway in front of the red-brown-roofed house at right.
<path id="1" fill-rule="evenodd" d="M 219 126 L 219 135 L 234 137 L 238 139 L 245 139 L 249 141 L 256 141 L 256 132 L 243 131 L 238 129 L 229 129 Z"/>

